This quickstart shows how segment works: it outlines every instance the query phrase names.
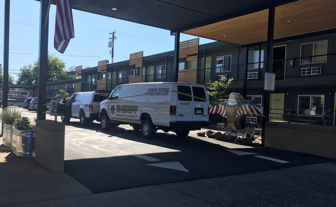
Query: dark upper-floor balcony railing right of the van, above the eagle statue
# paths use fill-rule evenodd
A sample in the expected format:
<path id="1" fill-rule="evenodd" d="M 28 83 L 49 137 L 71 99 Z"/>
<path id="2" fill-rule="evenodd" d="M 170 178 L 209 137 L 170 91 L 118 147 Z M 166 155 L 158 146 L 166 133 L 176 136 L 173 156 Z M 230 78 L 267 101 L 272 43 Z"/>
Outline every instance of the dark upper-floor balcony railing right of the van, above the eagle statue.
<path id="1" fill-rule="evenodd" d="M 247 79 L 263 80 L 264 64 L 264 62 L 249 63 L 247 65 Z M 277 80 L 291 77 L 334 75 L 336 74 L 336 54 L 275 60 L 272 67 Z M 233 77 L 234 81 L 243 81 L 245 80 L 245 64 L 200 69 L 198 80 L 200 84 L 206 84 L 210 80 L 212 82 L 218 80 L 219 75 L 224 75 L 228 79 Z"/>

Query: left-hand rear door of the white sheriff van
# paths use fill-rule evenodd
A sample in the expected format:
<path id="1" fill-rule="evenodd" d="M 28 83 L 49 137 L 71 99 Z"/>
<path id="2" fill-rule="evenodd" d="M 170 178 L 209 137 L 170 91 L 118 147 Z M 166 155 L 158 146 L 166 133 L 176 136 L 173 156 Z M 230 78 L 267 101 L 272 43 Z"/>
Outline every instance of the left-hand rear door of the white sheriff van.
<path id="1" fill-rule="evenodd" d="M 192 121 L 192 93 L 190 86 L 177 86 L 176 121 Z"/>

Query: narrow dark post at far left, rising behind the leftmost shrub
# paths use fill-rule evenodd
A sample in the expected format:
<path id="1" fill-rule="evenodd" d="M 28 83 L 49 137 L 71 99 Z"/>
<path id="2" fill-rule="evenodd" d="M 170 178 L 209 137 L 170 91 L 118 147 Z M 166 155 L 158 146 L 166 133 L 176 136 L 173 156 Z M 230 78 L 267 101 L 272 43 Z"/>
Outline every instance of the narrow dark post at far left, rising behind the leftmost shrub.
<path id="1" fill-rule="evenodd" d="M 4 79 L 3 79 L 3 109 L 8 107 L 8 65 L 9 65 L 9 10 L 10 0 L 5 1 L 4 28 Z"/>

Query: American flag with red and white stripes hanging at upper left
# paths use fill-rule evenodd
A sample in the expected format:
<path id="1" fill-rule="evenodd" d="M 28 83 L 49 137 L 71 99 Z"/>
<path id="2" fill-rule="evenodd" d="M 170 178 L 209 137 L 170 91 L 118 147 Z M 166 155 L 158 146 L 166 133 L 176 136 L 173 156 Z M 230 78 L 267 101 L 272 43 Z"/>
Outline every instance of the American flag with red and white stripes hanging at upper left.
<path id="1" fill-rule="evenodd" d="M 63 54 L 70 39 L 75 37 L 70 0 L 57 0 L 56 10 L 53 46 Z"/>

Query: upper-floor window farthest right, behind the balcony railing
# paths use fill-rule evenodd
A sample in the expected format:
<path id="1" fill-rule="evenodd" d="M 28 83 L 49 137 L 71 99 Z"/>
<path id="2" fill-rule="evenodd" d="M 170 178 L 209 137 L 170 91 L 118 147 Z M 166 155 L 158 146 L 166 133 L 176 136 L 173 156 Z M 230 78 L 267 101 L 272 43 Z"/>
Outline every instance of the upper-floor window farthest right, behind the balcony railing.
<path id="1" fill-rule="evenodd" d="M 300 64 L 324 63 L 327 62 L 328 40 L 301 44 Z M 312 57 L 316 56 L 316 57 Z"/>

